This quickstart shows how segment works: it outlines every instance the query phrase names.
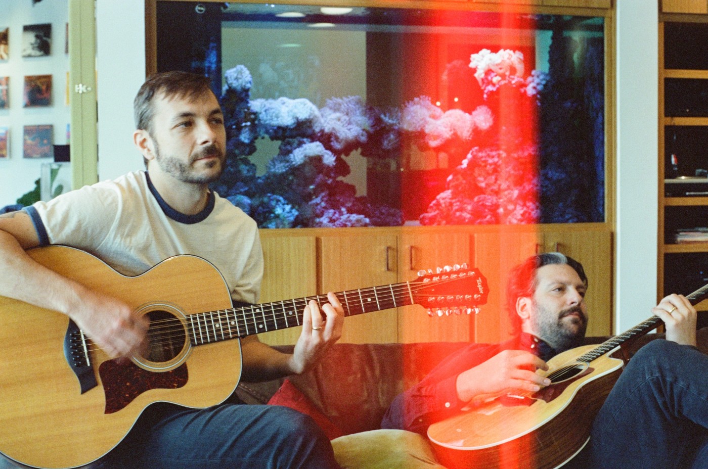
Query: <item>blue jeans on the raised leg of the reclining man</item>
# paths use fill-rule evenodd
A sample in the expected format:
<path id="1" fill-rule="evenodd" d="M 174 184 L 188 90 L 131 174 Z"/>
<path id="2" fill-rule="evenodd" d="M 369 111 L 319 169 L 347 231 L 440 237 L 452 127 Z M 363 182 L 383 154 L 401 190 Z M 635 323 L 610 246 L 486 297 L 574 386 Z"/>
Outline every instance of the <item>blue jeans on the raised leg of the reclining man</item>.
<path id="1" fill-rule="evenodd" d="M 668 340 L 641 347 L 568 467 L 708 468 L 708 356 Z"/>

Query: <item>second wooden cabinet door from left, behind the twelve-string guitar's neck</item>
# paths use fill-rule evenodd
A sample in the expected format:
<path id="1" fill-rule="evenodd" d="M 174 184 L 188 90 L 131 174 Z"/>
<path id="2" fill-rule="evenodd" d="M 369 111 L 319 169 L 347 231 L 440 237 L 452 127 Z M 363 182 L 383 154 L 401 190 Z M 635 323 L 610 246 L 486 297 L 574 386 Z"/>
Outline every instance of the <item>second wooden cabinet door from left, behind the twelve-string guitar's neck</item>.
<path id="1" fill-rule="evenodd" d="M 396 241 L 395 234 L 318 238 L 319 293 L 355 294 L 357 289 L 398 282 Z M 340 300 L 344 303 L 343 298 Z M 340 339 L 340 342 L 356 344 L 397 341 L 395 309 L 346 318 Z"/>

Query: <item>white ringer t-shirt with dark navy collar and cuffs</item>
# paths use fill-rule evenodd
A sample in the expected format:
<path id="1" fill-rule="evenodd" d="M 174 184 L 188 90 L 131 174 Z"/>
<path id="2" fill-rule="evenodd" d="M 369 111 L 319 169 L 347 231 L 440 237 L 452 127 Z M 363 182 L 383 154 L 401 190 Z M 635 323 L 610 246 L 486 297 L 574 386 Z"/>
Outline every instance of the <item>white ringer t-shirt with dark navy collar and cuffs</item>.
<path id="1" fill-rule="evenodd" d="M 196 255 L 217 267 L 234 301 L 258 302 L 263 252 L 256 222 L 214 192 L 202 212 L 181 214 L 138 171 L 24 210 L 41 245 L 85 250 L 128 276 L 174 255 Z"/>

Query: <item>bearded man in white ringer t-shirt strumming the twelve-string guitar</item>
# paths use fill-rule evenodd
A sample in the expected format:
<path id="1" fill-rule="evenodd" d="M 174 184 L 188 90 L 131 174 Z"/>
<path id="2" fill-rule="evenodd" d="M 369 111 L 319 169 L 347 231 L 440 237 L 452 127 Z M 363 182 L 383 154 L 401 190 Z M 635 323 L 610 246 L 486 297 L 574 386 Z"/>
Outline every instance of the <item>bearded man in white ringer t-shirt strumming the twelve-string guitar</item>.
<path id="1" fill-rule="evenodd" d="M 67 314 L 110 357 L 144 349 L 145 316 L 48 270 L 26 249 L 70 245 L 129 276 L 174 255 L 197 255 L 222 273 L 236 306 L 256 303 L 263 275 L 256 223 L 208 188 L 224 170 L 226 146 L 209 79 L 177 71 L 151 76 L 134 107 L 133 138 L 147 172 L 0 217 L 0 295 Z M 329 301 L 321 308 L 315 301 L 306 306 L 292 354 L 255 335 L 242 339 L 241 377 L 268 380 L 310 369 L 341 336 L 343 309 L 333 294 Z M 338 468 L 331 444 L 309 417 L 286 407 L 232 403 L 203 410 L 150 405 L 98 465 Z"/>

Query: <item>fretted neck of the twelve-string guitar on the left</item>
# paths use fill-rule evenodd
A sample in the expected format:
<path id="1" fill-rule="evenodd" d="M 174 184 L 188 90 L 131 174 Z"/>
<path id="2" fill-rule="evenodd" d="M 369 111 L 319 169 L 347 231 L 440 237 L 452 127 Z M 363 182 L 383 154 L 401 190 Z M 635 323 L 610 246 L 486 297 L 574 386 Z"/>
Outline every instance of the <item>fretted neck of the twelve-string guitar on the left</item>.
<path id="1" fill-rule="evenodd" d="M 345 316 L 372 313 L 415 303 L 411 286 L 414 283 L 340 291 L 336 296 L 341 301 Z M 299 299 L 190 314 L 187 316 L 190 341 L 193 345 L 200 345 L 294 328 L 302 325 L 304 308 L 312 300 L 319 305 L 329 301 L 326 295 L 304 296 Z"/>

